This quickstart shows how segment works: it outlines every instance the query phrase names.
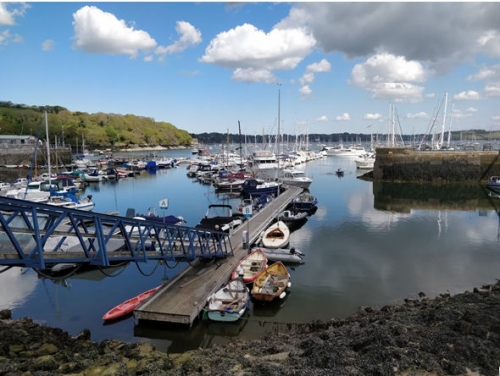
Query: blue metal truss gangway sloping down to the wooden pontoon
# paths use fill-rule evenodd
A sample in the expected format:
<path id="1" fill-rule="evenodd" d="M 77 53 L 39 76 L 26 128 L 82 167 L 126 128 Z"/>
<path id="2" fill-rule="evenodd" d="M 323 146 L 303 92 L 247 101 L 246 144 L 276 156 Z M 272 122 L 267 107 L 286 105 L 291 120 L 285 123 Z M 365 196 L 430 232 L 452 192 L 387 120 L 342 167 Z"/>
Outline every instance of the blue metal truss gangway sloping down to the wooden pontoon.
<path id="1" fill-rule="evenodd" d="M 0 197 L 0 265 L 45 269 L 233 255 L 225 232 Z"/>

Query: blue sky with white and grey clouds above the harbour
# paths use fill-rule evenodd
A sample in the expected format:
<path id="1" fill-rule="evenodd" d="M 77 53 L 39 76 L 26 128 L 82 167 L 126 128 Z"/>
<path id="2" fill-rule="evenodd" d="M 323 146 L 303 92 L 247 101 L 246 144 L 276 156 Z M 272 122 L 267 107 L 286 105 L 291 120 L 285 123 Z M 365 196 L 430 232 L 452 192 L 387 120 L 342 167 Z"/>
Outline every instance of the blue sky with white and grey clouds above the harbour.
<path id="1" fill-rule="evenodd" d="M 274 134 L 278 108 L 281 133 L 387 133 L 390 104 L 407 134 L 500 130 L 498 20 L 495 2 L 0 3 L 0 100 L 190 133 Z"/>

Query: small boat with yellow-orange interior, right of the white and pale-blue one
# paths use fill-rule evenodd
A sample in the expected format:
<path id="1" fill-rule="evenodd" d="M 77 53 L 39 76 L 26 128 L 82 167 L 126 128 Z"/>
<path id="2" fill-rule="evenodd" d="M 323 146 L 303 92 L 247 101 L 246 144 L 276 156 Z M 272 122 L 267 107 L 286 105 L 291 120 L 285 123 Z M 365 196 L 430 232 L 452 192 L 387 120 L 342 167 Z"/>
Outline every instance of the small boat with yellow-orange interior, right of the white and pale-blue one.
<path id="1" fill-rule="evenodd" d="M 269 265 L 255 279 L 252 287 L 252 297 L 256 300 L 270 302 L 279 297 L 286 296 L 286 288 L 290 287 L 290 274 L 281 262 Z"/>

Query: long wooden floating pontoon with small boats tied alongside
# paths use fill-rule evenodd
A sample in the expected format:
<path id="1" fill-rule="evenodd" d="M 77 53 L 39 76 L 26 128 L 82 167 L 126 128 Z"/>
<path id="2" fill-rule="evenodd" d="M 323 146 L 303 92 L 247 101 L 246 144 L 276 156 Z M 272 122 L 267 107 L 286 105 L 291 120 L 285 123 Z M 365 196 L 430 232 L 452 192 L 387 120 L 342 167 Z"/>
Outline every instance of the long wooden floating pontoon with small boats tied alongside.
<path id="1" fill-rule="evenodd" d="M 254 243 L 273 218 L 300 192 L 301 188 L 287 187 L 270 204 L 236 228 L 230 234 L 234 257 L 210 261 L 197 259 L 137 307 L 134 317 L 145 321 L 193 324 L 210 294 L 227 283 L 236 264 L 249 252 L 246 246 Z M 246 239 L 248 244 L 243 244 Z"/>

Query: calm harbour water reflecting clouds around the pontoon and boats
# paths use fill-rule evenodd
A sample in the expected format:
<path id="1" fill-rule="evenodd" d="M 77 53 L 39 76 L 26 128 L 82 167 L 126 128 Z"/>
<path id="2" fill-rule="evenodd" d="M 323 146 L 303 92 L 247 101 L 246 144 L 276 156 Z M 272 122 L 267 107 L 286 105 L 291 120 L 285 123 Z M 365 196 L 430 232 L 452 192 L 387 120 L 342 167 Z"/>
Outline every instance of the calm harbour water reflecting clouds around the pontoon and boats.
<path id="1" fill-rule="evenodd" d="M 160 154 L 190 156 L 189 151 Z M 343 178 L 334 173 L 338 167 L 346 171 Z M 499 277 L 500 198 L 487 196 L 481 187 L 462 191 L 455 186 L 374 184 L 357 178 L 361 172 L 352 159 L 339 157 L 301 168 L 314 179 L 310 192 L 319 204 L 292 233 L 290 243 L 306 254 L 305 263 L 289 267 L 292 287 L 280 304 L 252 305 L 235 324 L 200 321 L 189 330 L 138 325 L 133 317 L 104 325 L 108 309 L 185 267 L 131 263 L 109 276 L 96 271 L 57 283 L 30 269 L 10 269 L 0 274 L 0 309 L 71 335 L 87 328 L 94 341 L 148 341 L 160 350 L 182 352 L 234 338 L 259 338 L 295 323 L 345 318 L 360 306 L 395 304 L 417 298 L 419 292 L 433 297 L 472 290 Z M 121 215 L 128 208 L 144 212 L 168 198 L 165 213 L 181 215 L 188 226 L 196 225 L 211 203 L 239 204 L 239 199 L 216 195 L 213 187 L 189 179 L 186 172 L 181 166 L 93 183 L 83 194 L 93 195 L 96 212 Z"/>

